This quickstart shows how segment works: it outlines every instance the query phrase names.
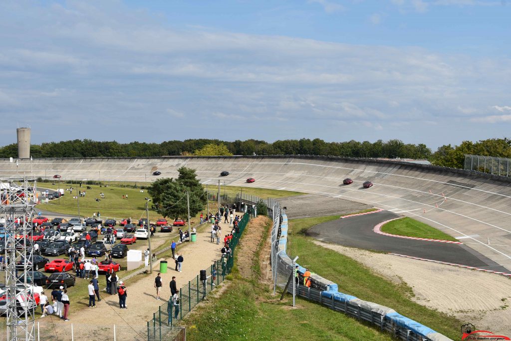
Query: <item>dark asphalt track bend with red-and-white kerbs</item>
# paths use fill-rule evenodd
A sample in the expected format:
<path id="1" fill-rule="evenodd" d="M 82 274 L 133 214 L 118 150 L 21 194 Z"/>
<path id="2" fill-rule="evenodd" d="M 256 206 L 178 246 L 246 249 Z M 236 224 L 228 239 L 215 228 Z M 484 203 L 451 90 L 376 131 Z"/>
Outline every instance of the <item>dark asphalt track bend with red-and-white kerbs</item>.
<path id="1" fill-rule="evenodd" d="M 389 211 L 382 211 L 374 214 L 337 219 L 313 226 L 306 234 L 321 241 L 344 246 L 507 272 L 507 269 L 503 266 L 475 252 L 466 245 L 389 237 L 373 232 L 375 225 L 397 217 L 399 215 Z"/>

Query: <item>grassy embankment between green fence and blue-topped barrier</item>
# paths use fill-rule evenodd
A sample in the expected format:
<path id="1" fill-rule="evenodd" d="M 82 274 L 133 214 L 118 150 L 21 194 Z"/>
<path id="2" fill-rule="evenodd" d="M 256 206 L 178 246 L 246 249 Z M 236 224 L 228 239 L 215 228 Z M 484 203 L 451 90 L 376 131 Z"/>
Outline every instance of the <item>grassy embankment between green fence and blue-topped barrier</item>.
<path id="1" fill-rule="evenodd" d="M 268 236 L 270 224 L 266 225 L 263 240 Z M 268 284 L 260 280 L 263 246 L 264 242 L 260 242 L 254 257 L 249 257 L 250 277 L 241 277 L 235 271 L 221 294 L 210 297 L 210 302 L 197 306 L 185 318 L 190 340 L 392 340 L 390 335 L 319 304 L 297 298 L 297 308 L 293 309 L 289 295 L 283 301 L 279 300 L 280 294 L 273 296 Z M 238 253 L 236 263 L 246 261 L 243 258 Z"/>

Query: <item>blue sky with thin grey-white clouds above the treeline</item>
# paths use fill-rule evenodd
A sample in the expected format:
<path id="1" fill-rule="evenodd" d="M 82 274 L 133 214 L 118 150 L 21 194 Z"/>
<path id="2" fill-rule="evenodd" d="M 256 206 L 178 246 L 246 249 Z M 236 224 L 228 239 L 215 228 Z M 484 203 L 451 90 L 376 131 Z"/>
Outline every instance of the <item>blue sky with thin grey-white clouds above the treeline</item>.
<path id="1" fill-rule="evenodd" d="M 511 2 L 0 2 L 0 145 L 510 137 Z"/>

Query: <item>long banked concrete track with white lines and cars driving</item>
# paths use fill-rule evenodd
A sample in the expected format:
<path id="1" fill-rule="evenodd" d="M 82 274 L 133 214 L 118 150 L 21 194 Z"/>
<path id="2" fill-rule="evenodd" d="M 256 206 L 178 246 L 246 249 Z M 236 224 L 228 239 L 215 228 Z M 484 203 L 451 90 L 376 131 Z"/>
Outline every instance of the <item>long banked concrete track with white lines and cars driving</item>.
<path id="1" fill-rule="evenodd" d="M 406 163 L 315 156 L 42 158 L 19 161 L 18 175 L 73 180 L 147 181 L 197 170 L 202 183 L 294 190 L 362 202 L 403 214 L 461 237 L 467 246 L 511 270 L 511 188 L 507 178 Z M 220 177 L 227 170 L 230 175 Z M 0 176 L 16 164 L 0 160 Z M 256 179 L 246 184 L 247 177 Z M 354 183 L 343 186 L 351 177 Z M 362 188 L 371 180 L 374 186 Z"/>

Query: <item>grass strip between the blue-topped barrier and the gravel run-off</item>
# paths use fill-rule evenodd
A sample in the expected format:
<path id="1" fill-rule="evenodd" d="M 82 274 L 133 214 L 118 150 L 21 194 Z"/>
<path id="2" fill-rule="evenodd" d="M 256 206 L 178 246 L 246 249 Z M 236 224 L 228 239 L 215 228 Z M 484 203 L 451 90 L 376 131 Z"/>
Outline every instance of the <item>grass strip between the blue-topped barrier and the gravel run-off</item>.
<path id="1" fill-rule="evenodd" d="M 405 283 L 394 284 L 352 258 L 315 245 L 305 237 L 305 230 L 339 216 L 291 219 L 289 221 L 288 255 L 299 256 L 299 264 L 339 285 L 339 291 L 359 299 L 390 307 L 404 316 L 450 338 L 459 337 L 462 324 L 455 317 L 428 309 L 410 300 L 413 290 Z M 417 274 L 420 276 L 420 274 Z"/>

